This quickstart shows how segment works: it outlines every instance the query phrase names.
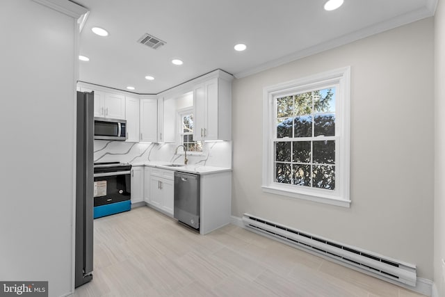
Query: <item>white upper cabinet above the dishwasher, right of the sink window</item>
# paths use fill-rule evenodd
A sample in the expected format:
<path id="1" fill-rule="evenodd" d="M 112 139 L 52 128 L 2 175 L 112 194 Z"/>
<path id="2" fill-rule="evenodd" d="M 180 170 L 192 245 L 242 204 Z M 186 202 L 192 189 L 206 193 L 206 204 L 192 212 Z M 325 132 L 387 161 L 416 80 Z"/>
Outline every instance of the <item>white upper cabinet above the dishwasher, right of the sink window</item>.
<path id="1" fill-rule="evenodd" d="M 193 87 L 195 129 L 193 137 L 205 141 L 232 138 L 232 83 L 221 77 Z"/>

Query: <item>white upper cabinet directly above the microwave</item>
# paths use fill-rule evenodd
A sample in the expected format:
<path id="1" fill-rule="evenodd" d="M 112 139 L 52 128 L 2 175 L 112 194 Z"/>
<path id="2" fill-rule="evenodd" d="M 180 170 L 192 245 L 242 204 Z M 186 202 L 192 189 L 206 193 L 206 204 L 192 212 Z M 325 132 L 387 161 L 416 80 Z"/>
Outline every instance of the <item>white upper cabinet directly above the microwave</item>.
<path id="1" fill-rule="evenodd" d="M 82 92 L 95 92 L 95 117 L 125 120 L 125 96 L 81 87 Z"/>

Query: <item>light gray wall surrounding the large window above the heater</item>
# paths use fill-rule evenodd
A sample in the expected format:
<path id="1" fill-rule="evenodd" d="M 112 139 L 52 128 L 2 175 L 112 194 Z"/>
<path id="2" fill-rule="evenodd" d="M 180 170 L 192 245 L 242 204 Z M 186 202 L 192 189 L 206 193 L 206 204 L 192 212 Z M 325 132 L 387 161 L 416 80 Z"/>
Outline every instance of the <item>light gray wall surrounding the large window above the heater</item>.
<path id="1" fill-rule="evenodd" d="M 432 280 L 433 19 L 236 79 L 232 214 L 416 264 Z M 263 88 L 351 67 L 350 209 L 261 191 Z"/>

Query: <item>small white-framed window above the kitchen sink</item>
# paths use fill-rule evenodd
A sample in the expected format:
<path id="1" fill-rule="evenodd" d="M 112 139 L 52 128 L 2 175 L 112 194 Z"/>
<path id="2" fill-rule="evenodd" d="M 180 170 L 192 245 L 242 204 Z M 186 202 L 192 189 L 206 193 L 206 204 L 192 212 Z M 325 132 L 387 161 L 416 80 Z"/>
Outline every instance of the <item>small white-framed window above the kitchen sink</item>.
<path id="1" fill-rule="evenodd" d="M 179 143 L 186 147 L 187 153 L 202 154 L 202 142 L 193 139 L 193 129 L 195 128 L 193 107 L 181 109 L 178 112 L 178 118 Z M 184 148 L 182 149 L 184 150 Z"/>

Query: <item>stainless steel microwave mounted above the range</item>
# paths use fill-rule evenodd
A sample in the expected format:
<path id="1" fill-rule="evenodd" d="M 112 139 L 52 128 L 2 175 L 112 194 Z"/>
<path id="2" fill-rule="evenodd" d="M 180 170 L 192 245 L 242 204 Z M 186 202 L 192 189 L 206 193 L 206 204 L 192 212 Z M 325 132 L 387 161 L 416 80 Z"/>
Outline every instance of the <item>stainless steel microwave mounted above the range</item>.
<path id="1" fill-rule="evenodd" d="M 95 118 L 95 139 L 126 141 L 127 120 Z"/>

